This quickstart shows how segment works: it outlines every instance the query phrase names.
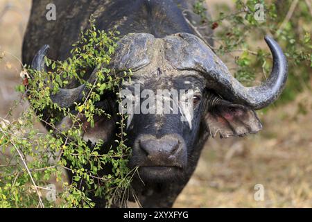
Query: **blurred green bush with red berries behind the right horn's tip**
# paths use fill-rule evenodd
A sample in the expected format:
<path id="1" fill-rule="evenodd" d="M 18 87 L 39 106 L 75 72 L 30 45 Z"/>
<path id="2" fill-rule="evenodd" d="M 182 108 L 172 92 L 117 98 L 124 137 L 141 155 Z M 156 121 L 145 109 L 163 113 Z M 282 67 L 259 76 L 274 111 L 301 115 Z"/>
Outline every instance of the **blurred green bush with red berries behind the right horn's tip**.
<path id="1" fill-rule="evenodd" d="M 259 6 L 259 7 L 257 7 Z M 263 19 L 259 12 L 263 7 Z M 205 15 L 202 1 L 194 12 Z M 235 1 L 235 9 L 217 4 L 219 15 L 207 18 L 205 26 L 214 29 L 214 51 L 223 60 L 235 60 L 234 76 L 245 85 L 257 85 L 270 74 L 272 57 L 263 46 L 263 37 L 271 35 L 288 58 L 288 83 L 276 104 L 295 99 L 302 89 L 309 89 L 312 67 L 311 19 L 309 1 L 247 0 Z M 259 19 L 260 18 L 260 19 Z M 211 36 L 210 36 L 211 37 Z M 261 45 L 261 49 L 259 47 Z M 256 81 L 256 83 L 255 83 Z"/>

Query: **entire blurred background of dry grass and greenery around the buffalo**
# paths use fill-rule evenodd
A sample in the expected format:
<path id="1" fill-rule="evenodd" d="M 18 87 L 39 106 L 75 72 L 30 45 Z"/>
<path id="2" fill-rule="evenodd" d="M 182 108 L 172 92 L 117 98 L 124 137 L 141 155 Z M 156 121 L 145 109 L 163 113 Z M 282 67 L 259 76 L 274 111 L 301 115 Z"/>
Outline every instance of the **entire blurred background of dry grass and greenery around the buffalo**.
<path id="1" fill-rule="evenodd" d="M 264 35 L 272 35 L 286 53 L 289 77 L 281 98 L 259 111 L 261 133 L 209 139 L 174 206 L 312 207 L 312 1 L 210 0 L 207 8 L 203 2 L 194 10 L 202 15 L 201 26 L 214 29 L 213 49 L 236 78 L 257 85 L 270 73 Z M 254 19 L 257 3 L 264 6 L 263 21 Z M 30 8 L 30 0 L 0 1 L 0 117 L 19 99 L 15 86 L 21 82 L 19 58 Z M 19 105 L 13 116 L 27 105 Z M 263 201 L 254 200 L 257 184 L 265 188 Z"/>

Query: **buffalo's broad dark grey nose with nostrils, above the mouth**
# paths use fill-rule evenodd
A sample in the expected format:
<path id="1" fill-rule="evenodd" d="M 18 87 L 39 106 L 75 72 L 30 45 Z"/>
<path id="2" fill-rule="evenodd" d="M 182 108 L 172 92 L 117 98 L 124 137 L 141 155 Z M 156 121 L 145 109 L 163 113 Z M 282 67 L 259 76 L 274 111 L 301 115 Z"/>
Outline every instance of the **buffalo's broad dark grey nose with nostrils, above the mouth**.
<path id="1" fill-rule="evenodd" d="M 140 148 L 148 159 L 148 165 L 181 167 L 182 143 L 173 137 L 140 139 Z"/>

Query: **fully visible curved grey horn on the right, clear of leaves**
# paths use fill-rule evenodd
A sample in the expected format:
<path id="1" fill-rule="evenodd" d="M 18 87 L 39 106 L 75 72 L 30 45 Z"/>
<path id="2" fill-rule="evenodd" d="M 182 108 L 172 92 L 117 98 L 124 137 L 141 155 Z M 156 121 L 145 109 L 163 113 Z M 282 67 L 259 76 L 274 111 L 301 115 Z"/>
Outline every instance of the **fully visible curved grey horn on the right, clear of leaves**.
<path id="1" fill-rule="evenodd" d="M 259 110 L 277 99 L 287 80 L 284 53 L 271 37 L 266 36 L 265 40 L 272 52 L 273 67 L 268 79 L 255 87 L 245 87 L 239 83 L 209 46 L 189 33 L 166 37 L 166 49 L 169 49 L 166 58 L 177 69 L 200 71 L 207 79 L 208 87 L 225 99 Z"/>

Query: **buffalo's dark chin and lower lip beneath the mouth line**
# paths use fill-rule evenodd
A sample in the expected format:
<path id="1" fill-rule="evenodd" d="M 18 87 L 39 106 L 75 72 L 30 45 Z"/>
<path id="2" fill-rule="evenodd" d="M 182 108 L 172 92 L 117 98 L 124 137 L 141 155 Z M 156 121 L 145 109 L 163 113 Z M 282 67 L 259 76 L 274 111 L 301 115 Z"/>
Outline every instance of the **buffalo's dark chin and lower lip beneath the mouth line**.
<path id="1" fill-rule="evenodd" d="M 169 166 L 146 166 L 139 167 L 139 177 L 143 182 L 164 182 L 176 180 L 183 175 L 180 167 Z"/>

